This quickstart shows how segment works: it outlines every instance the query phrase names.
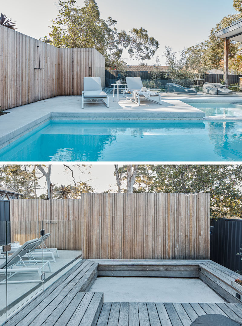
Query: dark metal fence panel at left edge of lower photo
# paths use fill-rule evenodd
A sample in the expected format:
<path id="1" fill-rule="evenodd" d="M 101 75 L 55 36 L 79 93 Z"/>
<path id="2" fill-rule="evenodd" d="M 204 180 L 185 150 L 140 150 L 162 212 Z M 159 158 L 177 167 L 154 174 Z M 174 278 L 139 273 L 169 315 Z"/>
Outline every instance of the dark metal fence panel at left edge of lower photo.
<path id="1" fill-rule="evenodd" d="M 0 200 L 0 245 L 6 244 L 6 223 L 10 221 L 10 201 Z M 10 242 L 10 223 L 7 223 L 7 243 Z"/>

